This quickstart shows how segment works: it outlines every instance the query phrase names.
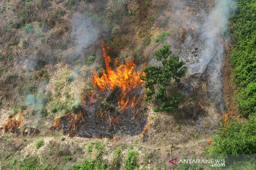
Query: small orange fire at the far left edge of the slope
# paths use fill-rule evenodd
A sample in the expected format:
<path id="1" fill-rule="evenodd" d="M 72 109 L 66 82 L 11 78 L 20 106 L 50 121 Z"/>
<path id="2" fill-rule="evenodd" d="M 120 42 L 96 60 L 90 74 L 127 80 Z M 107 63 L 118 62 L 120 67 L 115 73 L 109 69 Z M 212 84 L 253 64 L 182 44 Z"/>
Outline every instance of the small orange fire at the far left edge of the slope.
<path id="1" fill-rule="evenodd" d="M 15 119 L 12 119 L 11 117 L 9 117 L 7 119 L 7 123 L 4 123 L 3 124 L 3 127 L 4 127 L 4 132 L 12 132 L 12 133 L 15 133 L 15 134 L 20 134 L 20 130 L 19 130 L 19 127 L 21 126 L 21 122 L 19 121 L 20 117 L 21 117 L 21 112 L 19 112 Z"/>

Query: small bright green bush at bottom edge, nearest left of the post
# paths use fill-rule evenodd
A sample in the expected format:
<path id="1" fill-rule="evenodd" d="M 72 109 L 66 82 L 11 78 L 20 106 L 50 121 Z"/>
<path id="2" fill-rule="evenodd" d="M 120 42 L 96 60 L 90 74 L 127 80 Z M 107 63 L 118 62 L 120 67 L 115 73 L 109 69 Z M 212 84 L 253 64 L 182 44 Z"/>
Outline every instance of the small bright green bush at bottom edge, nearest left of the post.
<path id="1" fill-rule="evenodd" d="M 138 151 L 129 150 L 127 153 L 127 157 L 124 160 L 124 169 L 126 170 L 134 170 L 139 168 L 139 164 L 137 163 Z"/>

